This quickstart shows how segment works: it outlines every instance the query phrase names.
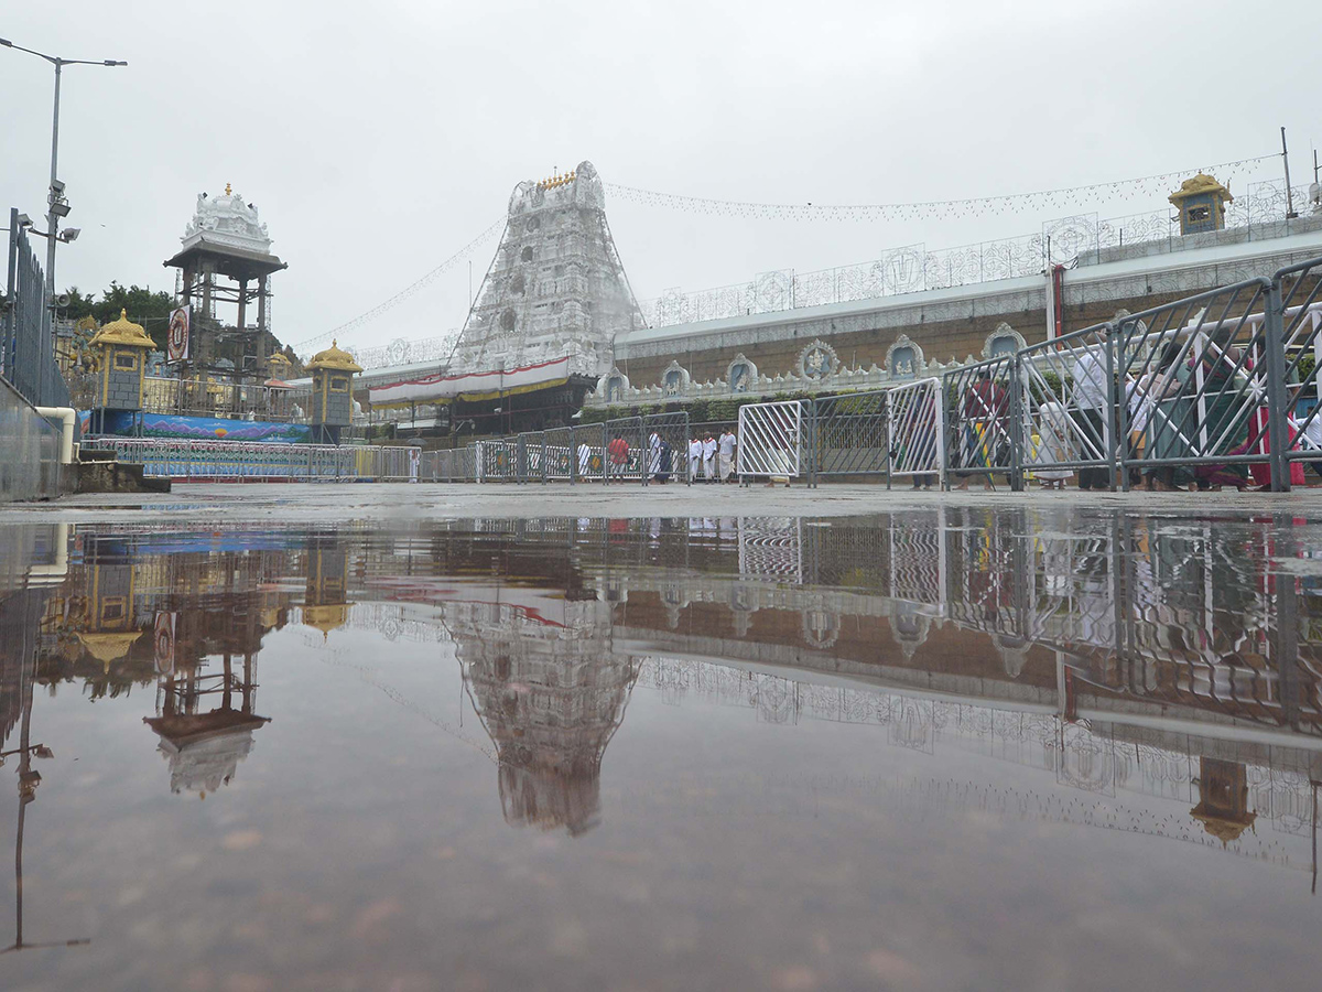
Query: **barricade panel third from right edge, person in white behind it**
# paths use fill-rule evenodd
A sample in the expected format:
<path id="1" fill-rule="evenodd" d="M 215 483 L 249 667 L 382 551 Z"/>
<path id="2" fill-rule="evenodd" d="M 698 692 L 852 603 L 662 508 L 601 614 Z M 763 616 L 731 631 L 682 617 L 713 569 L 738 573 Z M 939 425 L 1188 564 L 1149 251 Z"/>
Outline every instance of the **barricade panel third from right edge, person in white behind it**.
<path id="1" fill-rule="evenodd" d="M 1072 331 L 1018 353 L 1018 466 L 1042 481 L 1079 474 L 1085 489 L 1114 489 L 1118 443 L 1110 324 Z"/>

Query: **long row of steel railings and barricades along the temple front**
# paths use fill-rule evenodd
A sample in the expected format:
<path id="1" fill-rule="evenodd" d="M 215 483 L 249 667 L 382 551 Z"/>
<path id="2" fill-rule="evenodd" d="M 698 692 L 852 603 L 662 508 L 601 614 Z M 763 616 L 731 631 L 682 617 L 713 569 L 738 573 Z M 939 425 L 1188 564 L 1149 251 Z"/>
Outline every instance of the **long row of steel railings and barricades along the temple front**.
<path id="1" fill-rule="evenodd" d="M 1079 475 L 1087 488 L 1249 483 L 1288 491 L 1322 460 L 1322 258 L 884 390 L 739 410 L 734 470 L 944 485 Z M 714 436 L 683 411 L 422 452 L 106 438 L 153 475 L 424 481 L 693 483 Z M 707 446 L 710 447 L 710 444 Z M 416 452 L 416 454 L 414 454 Z M 719 471 L 719 456 L 711 475 Z"/>

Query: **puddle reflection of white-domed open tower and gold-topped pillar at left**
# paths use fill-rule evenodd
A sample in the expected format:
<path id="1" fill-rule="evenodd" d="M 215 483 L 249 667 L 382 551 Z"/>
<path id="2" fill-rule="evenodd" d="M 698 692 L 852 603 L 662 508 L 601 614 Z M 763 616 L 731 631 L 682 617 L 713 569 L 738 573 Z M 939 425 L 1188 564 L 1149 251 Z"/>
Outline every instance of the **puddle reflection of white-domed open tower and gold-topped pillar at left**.
<path id="1" fill-rule="evenodd" d="M 250 537 L 66 529 L 62 574 L 45 589 L 37 677 L 52 690 L 82 681 L 93 698 L 155 682 L 144 722 L 175 792 L 229 782 L 267 722 L 255 713 L 256 659 L 290 599 L 268 581 L 300 556 Z"/>

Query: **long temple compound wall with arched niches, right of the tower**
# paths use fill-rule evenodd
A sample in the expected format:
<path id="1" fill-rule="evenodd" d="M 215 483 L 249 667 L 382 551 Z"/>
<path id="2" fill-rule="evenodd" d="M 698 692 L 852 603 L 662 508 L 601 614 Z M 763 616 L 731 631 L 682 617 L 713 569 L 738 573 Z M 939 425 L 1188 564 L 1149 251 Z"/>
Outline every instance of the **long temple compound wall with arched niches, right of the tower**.
<path id="1" fill-rule="evenodd" d="M 1063 333 L 1322 255 L 1322 216 L 1084 253 Z M 1051 275 L 616 335 L 590 406 L 884 388 L 1046 340 Z"/>

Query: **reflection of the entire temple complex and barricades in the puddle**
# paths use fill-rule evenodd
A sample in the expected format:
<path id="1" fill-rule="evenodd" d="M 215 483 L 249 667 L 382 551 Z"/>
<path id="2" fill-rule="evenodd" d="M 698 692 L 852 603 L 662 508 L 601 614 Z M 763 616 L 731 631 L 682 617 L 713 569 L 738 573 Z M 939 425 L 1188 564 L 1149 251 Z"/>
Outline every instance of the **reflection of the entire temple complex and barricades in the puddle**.
<path id="1" fill-rule="evenodd" d="M 21 614 L 37 619 L 11 627 L 38 682 L 157 682 L 148 723 L 176 788 L 215 788 L 247 754 L 262 639 L 301 593 L 321 635 L 455 641 L 512 824 L 591 828 L 602 755 L 641 684 L 1040 771 L 1042 795 L 1006 815 L 1066 816 L 1042 796 L 1067 788 L 1096 798 L 1088 825 L 1297 864 L 1322 779 L 1322 611 L 1313 581 L 1273 561 L 1311 552 L 1265 521 L 1236 528 L 1055 508 L 446 521 L 386 538 L 91 528 L 66 533 L 62 561 L 37 556 L 28 581 L 45 585 Z M 20 680 L 4 660 L 8 729 Z"/>

